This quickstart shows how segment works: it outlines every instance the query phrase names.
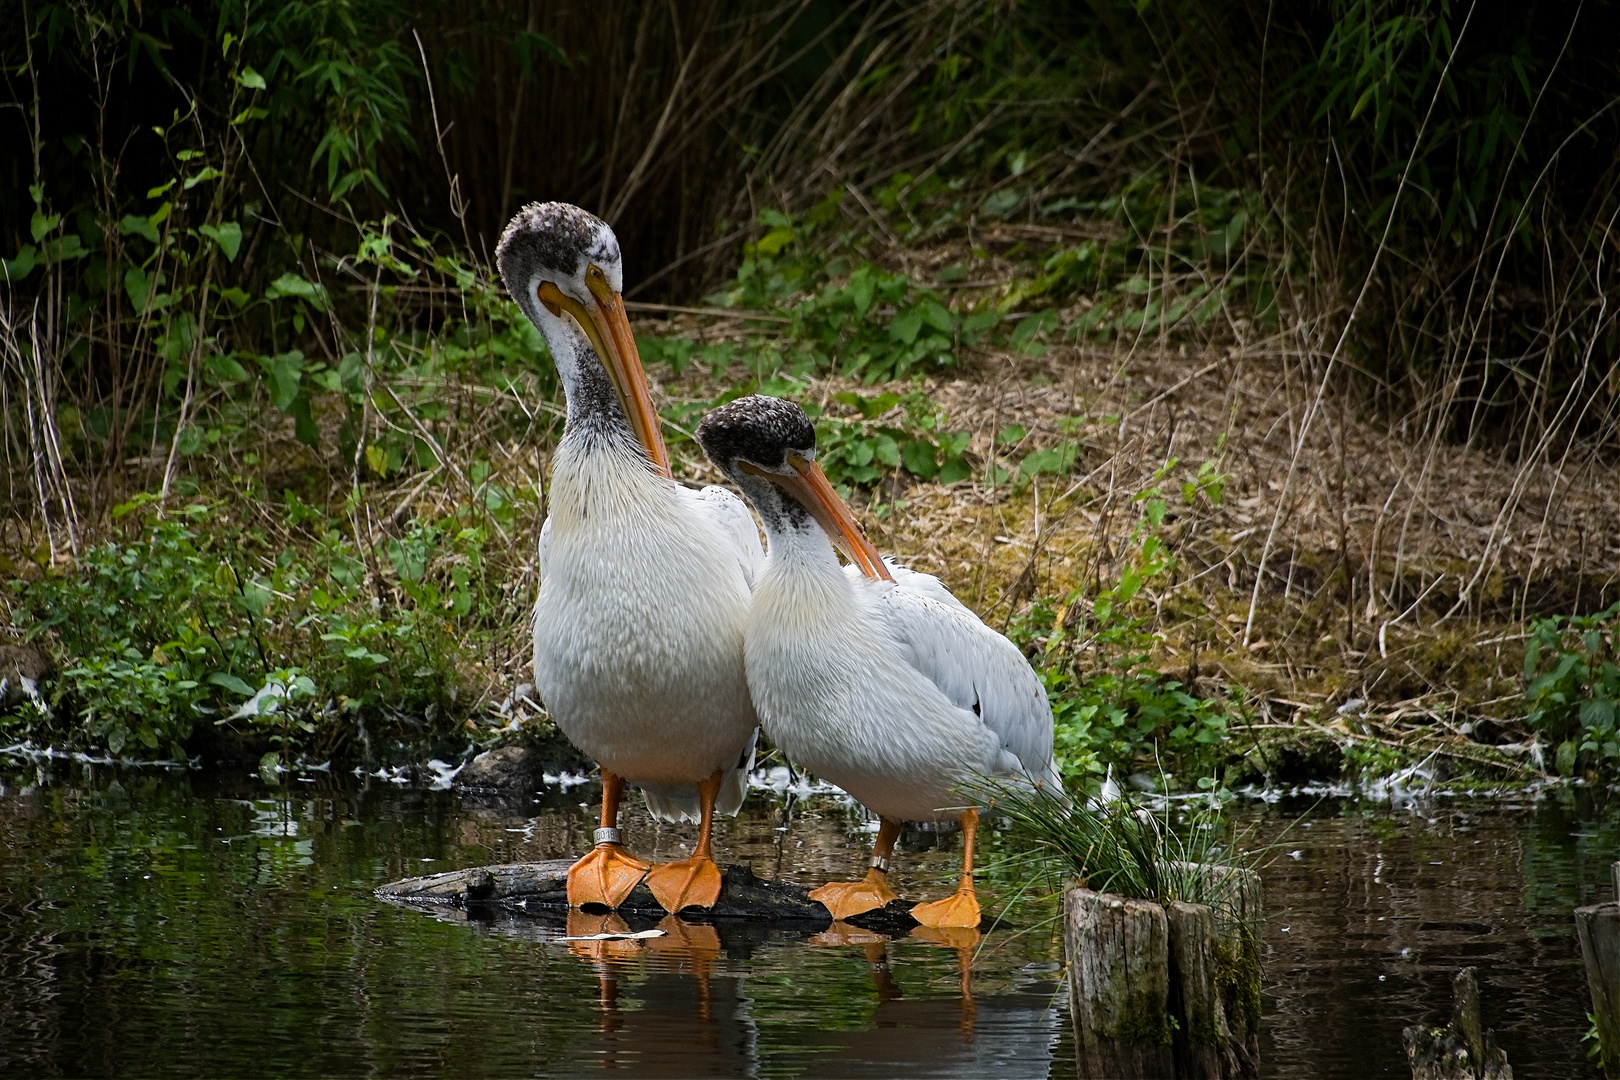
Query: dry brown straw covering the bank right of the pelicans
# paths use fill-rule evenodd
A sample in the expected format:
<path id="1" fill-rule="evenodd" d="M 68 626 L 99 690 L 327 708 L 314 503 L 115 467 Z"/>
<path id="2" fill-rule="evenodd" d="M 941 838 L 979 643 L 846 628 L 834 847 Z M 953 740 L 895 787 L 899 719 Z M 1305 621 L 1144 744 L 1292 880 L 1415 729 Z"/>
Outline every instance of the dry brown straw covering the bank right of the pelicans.
<path id="1" fill-rule="evenodd" d="M 985 461 L 1006 453 L 993 439 L 1009 423 L 1029 431 L 1024 453 L 1084 418 L 1072 476 L 914 484 L 868 525 L 996 625 L 1071 591 L 1084 610 L 1118 578 L 1132 499 L 1179 458 L 1162 483 L 1179 568 L 1145 596 L 1162 670 L 1205 691 L 1218 675 L 1278 719 L 1351 698 L 1396 721 L 1511 714 L 1520 622 L 1597 609 L 1620 588 L 1612 470 L 1408 440 L 1333 387 L 1301 447 L 1307 369 L 1264 347 L 982 356 L 928 384 L 951 426 L 974 432 Z M 1218 507 L 1187 507 L 1176 483 L 1204 460 L 1231 479 Z"/>

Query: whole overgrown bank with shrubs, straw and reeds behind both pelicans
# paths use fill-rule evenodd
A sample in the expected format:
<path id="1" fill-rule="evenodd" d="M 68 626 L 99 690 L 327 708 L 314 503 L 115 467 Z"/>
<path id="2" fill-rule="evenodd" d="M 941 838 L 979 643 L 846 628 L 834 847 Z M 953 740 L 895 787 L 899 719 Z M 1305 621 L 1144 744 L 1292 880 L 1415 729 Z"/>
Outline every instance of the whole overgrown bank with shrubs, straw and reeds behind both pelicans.
<path id="1" fill-rule="evenodd" d="M 544 8 L 16 13 L 0 745 L 562 753 L 561 393 L 488 256 L 556 198 L 677 476 L 802 403 L 1076 793 L 1615 780 L 1614 11 Z"/>

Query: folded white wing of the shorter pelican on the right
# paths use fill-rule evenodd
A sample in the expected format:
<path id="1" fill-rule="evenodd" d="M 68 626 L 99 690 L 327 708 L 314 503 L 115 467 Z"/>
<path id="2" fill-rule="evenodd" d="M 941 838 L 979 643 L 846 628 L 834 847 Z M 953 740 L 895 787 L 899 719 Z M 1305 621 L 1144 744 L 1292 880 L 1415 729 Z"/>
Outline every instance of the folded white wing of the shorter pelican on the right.
<path id="1" fill-rule="evenodd" d="M 894 563 L 889 573 L 893 586 L 870 583 L 881 589 L 872 607 L 899 646 L 901 659 L 954 704 L 975 712 L 1030 779 L 1061 790 L 1051 761 L 1051 704 L 1019 648 L 987 627 L 933 575 Z"/>

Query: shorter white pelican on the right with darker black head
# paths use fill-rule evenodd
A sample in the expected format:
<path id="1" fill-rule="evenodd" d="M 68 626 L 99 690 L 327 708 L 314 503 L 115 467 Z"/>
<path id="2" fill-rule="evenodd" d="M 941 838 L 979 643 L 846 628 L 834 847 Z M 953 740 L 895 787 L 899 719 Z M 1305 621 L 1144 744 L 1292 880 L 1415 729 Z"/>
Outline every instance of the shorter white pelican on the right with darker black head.
<path id="1" fill-rule="evenodd" d="M 698 442 L 744 491 L 770 539 L 745 631 L 748 688 L 765 733 L 881 819 L 863 881 L 810 895 L 834 918 L 896 899 L 886 884 L 902 821 L 956 816 L 977 777 L 1055 785 L 1051 706 L 1017 646 L 938 578 L 885 563 L 815 463 L 804 410 L 745 397 L 714 410 Z M 854 560 L 839 567 L 833 544 Z M 962 790 L 962 785 L 967 790 Z M 977 926 L 974 834 L 962 823 L 956 894 L 919 904 L 923 926 Z"/>

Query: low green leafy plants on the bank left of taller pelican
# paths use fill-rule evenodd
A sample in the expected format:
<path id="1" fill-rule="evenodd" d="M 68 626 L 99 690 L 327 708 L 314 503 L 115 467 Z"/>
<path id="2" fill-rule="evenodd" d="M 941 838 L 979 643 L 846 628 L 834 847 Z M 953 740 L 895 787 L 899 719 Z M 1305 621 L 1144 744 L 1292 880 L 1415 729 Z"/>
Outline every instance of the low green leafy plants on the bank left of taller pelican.
<path id="1" fill-rule="evenodd" d="M 483 515 L 415 521 L 371 552 L 292 494 L 287 520 L 313 542 L 271 549 L 220 510 L 154 517 L 68 572 L 11 581 L 16 628 L 71 659 L 55 717 L 24 708 L 0 729 L 177 758 L 201 722 L 256 730 L 277 755 L 330 750 L 356 717 L 382 733 L 444 729 L 460 640 L 505 630 Z"/>

